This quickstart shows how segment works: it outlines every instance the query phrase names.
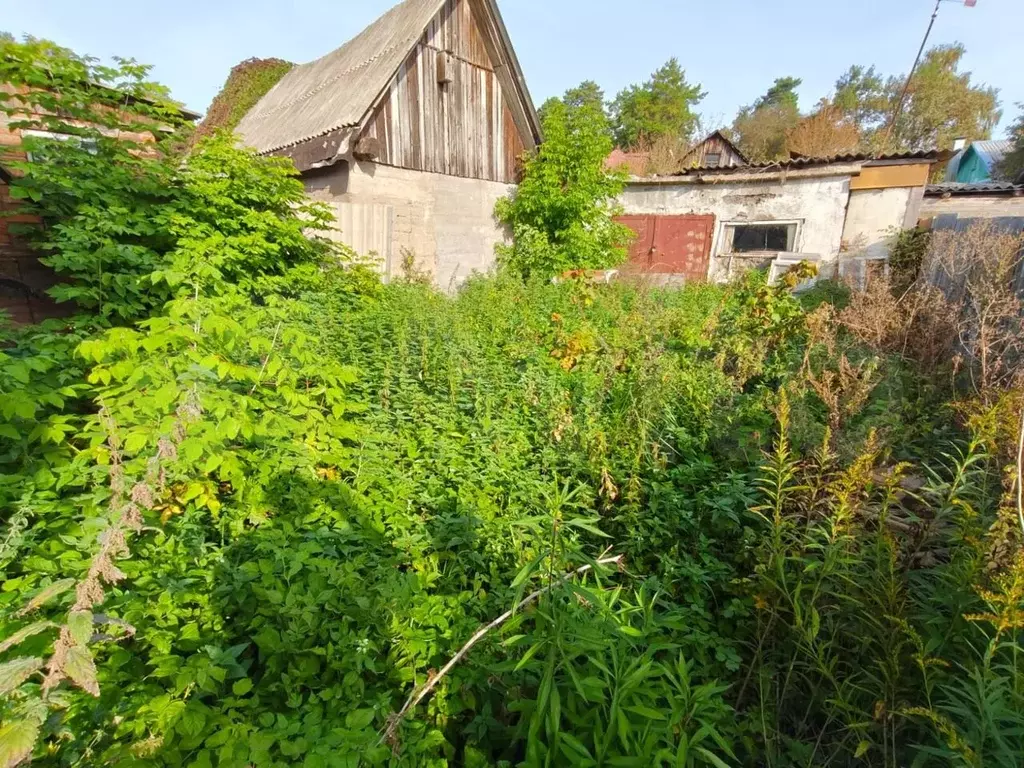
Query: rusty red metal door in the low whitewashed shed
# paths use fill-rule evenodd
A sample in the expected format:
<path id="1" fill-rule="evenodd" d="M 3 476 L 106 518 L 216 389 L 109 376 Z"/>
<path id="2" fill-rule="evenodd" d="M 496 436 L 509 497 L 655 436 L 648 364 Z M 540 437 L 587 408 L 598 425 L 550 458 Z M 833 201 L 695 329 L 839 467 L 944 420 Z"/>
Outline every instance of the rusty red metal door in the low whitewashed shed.
<path id="1" fill-rule="evenodd" d="M 687 282 L 708 279 L 715 216 L 622 216 L 637 233 L 630 250 L 634 268 L 658 274 L 680 274 Z"/>

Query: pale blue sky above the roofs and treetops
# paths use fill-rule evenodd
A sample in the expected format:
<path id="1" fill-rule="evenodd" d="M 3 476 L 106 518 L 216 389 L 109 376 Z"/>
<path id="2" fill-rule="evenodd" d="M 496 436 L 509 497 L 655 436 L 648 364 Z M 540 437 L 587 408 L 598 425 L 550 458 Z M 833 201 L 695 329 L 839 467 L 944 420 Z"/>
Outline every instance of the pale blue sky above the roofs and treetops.
<path id="1" fill-rule="evenodd" d="M 852 63 L 909 69 L 933 0 L 499 0 L 534 99 L 581 80 L 609 95 L 670 56 L 708 96 L 710 125 L 776 77 L 804 79 L 812 106 Z M 99 57 L 131 56 L 176 98 L 205 111 L 230 68 L 250 56 L 307 61 L 338 47 L 392 0 L 0 0 L 0 30 L 46 37 Z M 147 12 L 148 11 L 148 12 Z M 1024 101 L 1024 0 L 944 2 L 933 43 L 963 42 L 966 69 L 1000 89 L 1004 121 Z"/>

